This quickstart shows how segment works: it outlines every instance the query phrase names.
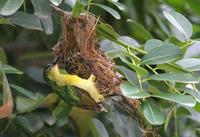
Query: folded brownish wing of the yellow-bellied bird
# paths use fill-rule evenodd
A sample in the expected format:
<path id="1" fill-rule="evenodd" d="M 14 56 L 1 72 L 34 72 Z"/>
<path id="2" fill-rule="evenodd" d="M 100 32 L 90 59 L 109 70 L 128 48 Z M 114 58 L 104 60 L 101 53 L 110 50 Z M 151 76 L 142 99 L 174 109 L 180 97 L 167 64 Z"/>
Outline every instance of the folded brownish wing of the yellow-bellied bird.
<path id="1" fill-rule="evenodd" d="M 94 99 L 86 90 L 74 85 L 68 85 L 67 87 L 68 89 L 70 88 L 70 90 L 72 90 L 76 94 L 76 96 L 80 99 L 82 105 L 100 108 L 100 106 L 94 101 Z"/>

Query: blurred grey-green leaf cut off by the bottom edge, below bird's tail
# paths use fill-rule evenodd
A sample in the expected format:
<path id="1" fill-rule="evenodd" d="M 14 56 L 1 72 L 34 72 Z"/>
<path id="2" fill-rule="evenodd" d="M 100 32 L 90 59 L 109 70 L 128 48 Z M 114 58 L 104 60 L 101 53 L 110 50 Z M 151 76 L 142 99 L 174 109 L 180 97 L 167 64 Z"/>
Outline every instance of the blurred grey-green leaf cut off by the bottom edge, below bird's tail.
<path id="1" fill-rule="evenodd" d="M 108 132 L 107 132 L 105 126 L 103 125 L 103 123 L 100 120 L 98 120 L 97 118 L 93 118 L 92 120 L 98 130 L 99 135 L 101 137 L 109 137 Z"/>

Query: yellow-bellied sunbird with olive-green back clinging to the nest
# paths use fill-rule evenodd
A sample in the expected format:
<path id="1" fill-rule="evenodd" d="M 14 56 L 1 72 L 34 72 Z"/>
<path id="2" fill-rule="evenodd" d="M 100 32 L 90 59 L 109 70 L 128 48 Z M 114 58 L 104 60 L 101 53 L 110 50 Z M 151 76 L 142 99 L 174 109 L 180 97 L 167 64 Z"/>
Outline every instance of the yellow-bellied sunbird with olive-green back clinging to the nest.
<path id="1" fill-rule="evenodd" d="M 107 110 L 99 105 L 99 102 L 104 100 L 104 96 L 96 87 L 95 75 L 91 74 L 88 79 L 83 79 L 78 75 L 61 74 L 57 65 L 59 59 L 60 57 L 44 68 L 43 77 L 46 83 L 61 99 L 72 106 L 106 112 Z"/>

